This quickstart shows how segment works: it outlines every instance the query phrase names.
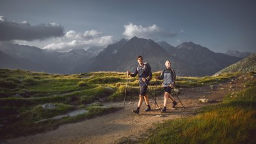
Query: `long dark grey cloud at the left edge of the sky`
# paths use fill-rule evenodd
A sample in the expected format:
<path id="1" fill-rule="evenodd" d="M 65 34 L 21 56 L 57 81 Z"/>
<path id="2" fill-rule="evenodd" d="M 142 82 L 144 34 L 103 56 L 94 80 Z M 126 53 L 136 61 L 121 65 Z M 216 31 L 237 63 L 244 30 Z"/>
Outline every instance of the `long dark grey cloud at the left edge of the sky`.
<path id="1" fill-rule="evenodd" d="M 44 40 L 58 36 L 64 36 L 64 27 L 57 23 L 30 25 L 27 21 L 16 23 L 0 16 L 0 41 Z"/>

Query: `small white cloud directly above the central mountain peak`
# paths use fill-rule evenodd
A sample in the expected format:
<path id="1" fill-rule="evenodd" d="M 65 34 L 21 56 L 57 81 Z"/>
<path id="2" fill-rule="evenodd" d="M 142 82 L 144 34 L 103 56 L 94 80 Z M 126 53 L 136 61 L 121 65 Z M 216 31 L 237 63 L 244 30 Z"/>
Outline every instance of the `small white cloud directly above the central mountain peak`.
<path id="1" fill-rule="evenodd" d="M 123 27 L 125 28 L 123 36 L 126 38 L 133 38 L 133 36 L 137 36 L 139 38 L 151 38 L 156 40 L 159 38 L 172 38 L 177 36 L 175 32 L 162 30 L 155 24 L 149 27 L 143 27 L 142 25 L 134 25 L 133 23 L 129 23 Z"/>

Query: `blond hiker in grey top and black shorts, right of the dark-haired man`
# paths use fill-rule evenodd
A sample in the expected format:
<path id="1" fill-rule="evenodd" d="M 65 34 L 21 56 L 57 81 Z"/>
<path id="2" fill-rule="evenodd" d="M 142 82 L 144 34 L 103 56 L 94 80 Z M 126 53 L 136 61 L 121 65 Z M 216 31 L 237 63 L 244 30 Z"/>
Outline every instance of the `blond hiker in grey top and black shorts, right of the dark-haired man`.
<path id="1" fill-rule="evenodd" d="M 166 104 L 167 104 L 167 99 L 171 99 L 172 100 L 172 108 L 175 108 L 177 102 L 174 101 L 172 95 L 171 95 L 171 91 L 172 88 L 175 84 L 175 78 L 176 78 L 176 74 L 175 71 L 173 71 L 172 67 L 171 67 L 171 62 L 169 60 L 166 60 L 165 62 L 165 66 L 166 69 L 164 69 L 159 76 L 156 76 L 156 79 L 162 80 L 162 86 L 164 87 L 164 108 L 162 108 L 162 112 L 166 112 Z"/>

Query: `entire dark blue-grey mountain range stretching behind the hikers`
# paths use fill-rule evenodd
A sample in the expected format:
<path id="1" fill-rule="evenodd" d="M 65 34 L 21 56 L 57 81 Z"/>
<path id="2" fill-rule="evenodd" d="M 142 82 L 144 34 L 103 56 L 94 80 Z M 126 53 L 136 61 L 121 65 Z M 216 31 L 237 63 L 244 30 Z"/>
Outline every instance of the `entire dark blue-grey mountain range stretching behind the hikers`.
<path id="1" fill-rule="evenodd" d="M 90 71 L 134 71 L 138 63 L 136 57 L 142 55 L 152 71 L 164 69 L 166 60 L 172 61 L 177 75 L 213 75 L 242 58 L 223 53 L 214 53 L 193 42 L 185 42 L 173 47 L 166 42 L 154 42 L 133 37 L 104 47 L 73 49 L 60 53 L 45 51 L 38 47 L 1 43 L 0 67 L 29 69 L 47 73 L 84 73 Z M 2 58 L 3 55 L 3 58 Z"/>

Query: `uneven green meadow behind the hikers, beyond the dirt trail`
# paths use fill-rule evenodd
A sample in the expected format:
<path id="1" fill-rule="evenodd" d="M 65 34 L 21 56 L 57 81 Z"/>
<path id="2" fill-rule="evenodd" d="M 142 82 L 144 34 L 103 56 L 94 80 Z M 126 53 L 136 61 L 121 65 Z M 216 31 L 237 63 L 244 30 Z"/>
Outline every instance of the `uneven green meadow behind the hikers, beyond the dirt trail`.
<path id="1" fill-rule="evenodd" d="M 153 77 L 155 75 L 160 75 L 160 72 L 153 73 Z M 232 73 L 218 77 L 177 77 L 176 87 L 193 88 L 218 84 L 238 75 L 240 74 Z M 20 69 L 0 69 L 0 139 L 44 132 L 64 123 L 75 123 L 120 110 L 101 104 L 91 104 L 100 102 L 99 99 L 123 101 L 126 80 L 126 73 L 118 72 L 58 75 Z M 161 80 L 153 78 L 149 90 L 161 94 Z M 129 77 L 126 99 L 137 100 L 138 93 L 138 78 Z M 55 104 L 56 108 L 52 110 L 42 108 L 42 104 L 49 103 Z M 88 113 L 37 123 L 42 119 L 81 109 L 88 110 Z"/>

